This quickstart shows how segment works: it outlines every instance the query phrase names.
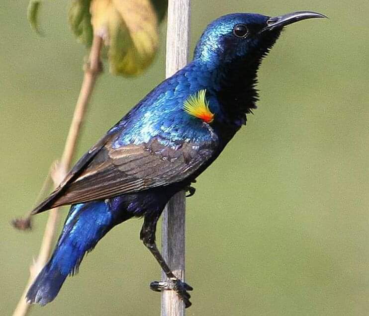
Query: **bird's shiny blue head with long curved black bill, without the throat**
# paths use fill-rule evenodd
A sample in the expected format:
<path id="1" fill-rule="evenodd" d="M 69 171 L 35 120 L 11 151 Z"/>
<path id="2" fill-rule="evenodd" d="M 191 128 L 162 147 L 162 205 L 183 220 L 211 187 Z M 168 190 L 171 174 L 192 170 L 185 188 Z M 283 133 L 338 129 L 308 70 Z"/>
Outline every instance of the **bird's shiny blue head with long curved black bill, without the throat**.
<path id="1" fill-rule="evenodd" d="M 255 13 L 224 15 L 210 23 L 201 35 L 194 59 L 209 66 L 260 61 L 276 42 L 284 26 L 323 14 L 299 11 L 270 17 Z"/>

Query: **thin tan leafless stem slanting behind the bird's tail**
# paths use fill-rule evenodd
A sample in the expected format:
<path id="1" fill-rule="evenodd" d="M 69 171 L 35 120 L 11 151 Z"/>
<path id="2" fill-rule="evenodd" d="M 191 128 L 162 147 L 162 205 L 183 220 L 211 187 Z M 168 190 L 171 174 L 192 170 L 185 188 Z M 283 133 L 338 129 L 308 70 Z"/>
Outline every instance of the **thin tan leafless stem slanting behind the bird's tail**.
<path id="1" fill-rule="evenodd" d="M 89 62 L 85 65 L 85 76 L 82 82 L 80 95 L 77 100 L 76 108 L 73 114 L 71 126 L 67 141 L 65 143 L 64 152 L 58 167 L 52 174 L 54 186 L 58 186 L 59 183 L 65 177 L 67 170 L 70 168 L 76 146 L 77 140 L 80 135 L 82 122 L 86 113 L 86 108 L 89 103 L 90 96 L 92 94 L 93 87 L 96 82 L 98 74 L 101 72 L 100 52 L 101 52 L 102 39 L 100 36 L 95 35 L 92 40 L 92 47 L 89 56 Z M 36 278 L 39 271 L 46 264 L 50 257 L 52 244 L 55 239 L 56 227 L 58 224 L 58 212 L 59 208 L 55 208 L 50 211 L 49 218 L 47 220 L 45 233 L 42 239 L 40 252 L 35 262 L 30 267 L 30 276 L 27 285 L 24 289 L 22 297 L 20 298 L 17 307 L 14 310 L 13 316 L 25 316 L 27 315 L 31 305 L 26 303 L 25 296 L 27 294 L 29 286 Z"/>

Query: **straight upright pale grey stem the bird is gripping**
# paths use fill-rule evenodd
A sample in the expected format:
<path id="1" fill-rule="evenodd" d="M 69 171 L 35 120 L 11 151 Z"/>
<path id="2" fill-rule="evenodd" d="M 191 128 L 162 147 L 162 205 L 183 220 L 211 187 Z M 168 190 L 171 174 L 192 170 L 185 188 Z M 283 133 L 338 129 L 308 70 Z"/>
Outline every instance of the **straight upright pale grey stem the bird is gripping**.
<path id="1" fill-rule="evenodd" d="M 190 0 L 169 0 L 167 26 L 166 77 L 187 64 Z M 163 213 L 162 252 L 174 272 L 184 280 L 184 191 L 177 193 Z M 166 275 L 162 273 L 163 280 Z M 162 316 L 184 316 L 184 303 L 174 291 L 162 292 Z"/>

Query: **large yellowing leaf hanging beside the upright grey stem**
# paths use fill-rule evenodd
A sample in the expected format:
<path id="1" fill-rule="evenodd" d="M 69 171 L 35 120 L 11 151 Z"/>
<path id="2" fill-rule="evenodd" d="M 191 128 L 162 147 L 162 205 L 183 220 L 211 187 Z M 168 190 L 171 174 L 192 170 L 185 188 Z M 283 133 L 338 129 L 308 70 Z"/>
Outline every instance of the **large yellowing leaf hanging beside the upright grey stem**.
<path id="1" fill-rule="evenodd" d="M 92 0 L 94 34 L 109 47 L 110 72 L 138 75 L 158 47 L 158 19 L 150 0 Z"/>

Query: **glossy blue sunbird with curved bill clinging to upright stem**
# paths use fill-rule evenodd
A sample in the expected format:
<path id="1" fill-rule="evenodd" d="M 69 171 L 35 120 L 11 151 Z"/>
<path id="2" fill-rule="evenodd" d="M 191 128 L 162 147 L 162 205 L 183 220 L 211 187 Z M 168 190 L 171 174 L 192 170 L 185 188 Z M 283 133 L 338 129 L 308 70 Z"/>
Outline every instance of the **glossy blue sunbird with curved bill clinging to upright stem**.
<path id="1" fill-rule="evenodd" d="M 279 16 L 231 13 L 211 22 L 193 59 L 138 102 L 80 158 L 33 211 L 71 205 L 53 254 L 30 286 L 28 303 L 46 305 L 87 252 L 114 226 L 143 217 L 140 239 L 166 273 L 185 307 L 192 287 L 177 278 L 155 242 L 171 197 L 194 193 L 192 183 L 246 125 L 258 101 L 257 72 L 286 25 L 326 16 L 296 11 Z"/>

